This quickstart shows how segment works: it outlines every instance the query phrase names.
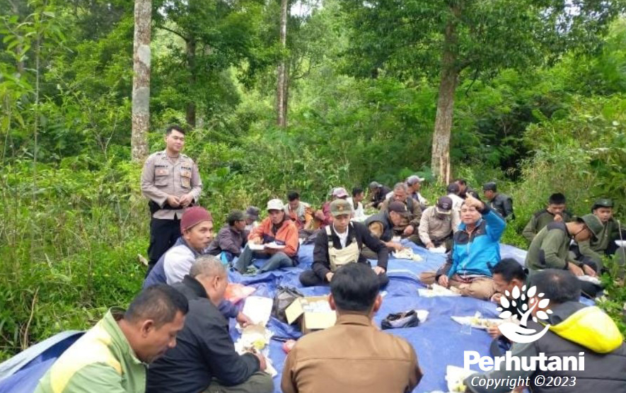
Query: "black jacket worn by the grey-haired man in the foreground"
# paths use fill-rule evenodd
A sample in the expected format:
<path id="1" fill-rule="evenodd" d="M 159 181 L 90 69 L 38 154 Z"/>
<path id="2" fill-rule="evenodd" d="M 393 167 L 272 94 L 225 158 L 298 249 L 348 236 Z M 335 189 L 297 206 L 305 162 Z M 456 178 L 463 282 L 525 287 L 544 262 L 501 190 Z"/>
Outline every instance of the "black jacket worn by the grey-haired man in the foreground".
<path id="1" fill-rule="evenodd" d="M 208 299 L 202 284 L 185 275 L 173 287 L 189 300 L 189 312 L 176 346 L 150 365 L 147 393 L 198 393 L 207 389 L 212 378 L 222 385 L 238 385 L 260 370 L 255 355 L 235 351 L 228 321 Z"/>

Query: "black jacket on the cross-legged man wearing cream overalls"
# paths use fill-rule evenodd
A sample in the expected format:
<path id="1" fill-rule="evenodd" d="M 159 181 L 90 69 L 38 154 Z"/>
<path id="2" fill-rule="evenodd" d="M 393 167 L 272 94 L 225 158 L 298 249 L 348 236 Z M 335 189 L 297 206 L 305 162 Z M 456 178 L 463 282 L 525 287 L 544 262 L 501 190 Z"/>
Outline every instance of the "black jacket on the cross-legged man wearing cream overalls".
<path id="1" fill-rule="evenodd" d="M 335 249 L 341 249 L 341 241 L 335 233 L 335 228 L 330 225 L 330 237 L 332 238 L 332 246 Z M 373 237 L 367 227 L 361 222 L 351 222 L 348 226 L 348 239 L 346 246 L 352 244 L 356 240 L 359 244 L 359 250 L 363 249 L 363 245 L 378 254 L 378 265 L 387 270 L 387 260 L 389 259 L 389 251 L 382 241 Z M 359 255 L 359 263 L 368 263 L 367 258 L 363 254 Z M 315 247 L 313 248 L 313 266 L 311 266 L 315 275 L 322 280 L 326 280 L 326 274 L 330 273 L 330 257 L 328 256 L 328 234 L 325 229 L 318 232 L 315 238 Z"/>

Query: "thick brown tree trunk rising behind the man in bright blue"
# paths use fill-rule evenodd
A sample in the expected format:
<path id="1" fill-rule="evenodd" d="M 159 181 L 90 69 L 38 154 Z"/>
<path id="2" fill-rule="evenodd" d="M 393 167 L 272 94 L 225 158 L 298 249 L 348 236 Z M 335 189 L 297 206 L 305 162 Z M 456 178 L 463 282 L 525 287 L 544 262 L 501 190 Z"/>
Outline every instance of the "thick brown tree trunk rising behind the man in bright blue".
<path id="1" fill-rule="evenodd" d="M 452 129 L 454 92 L 458 84 L 456 65 L 456 33 L 453 21 L 448 21 L 441 57 L 441 82 L 437 98 L 437 114 L 433 132 L 431 169 L 440 182 L 450 182 L 450 134 Z"/>

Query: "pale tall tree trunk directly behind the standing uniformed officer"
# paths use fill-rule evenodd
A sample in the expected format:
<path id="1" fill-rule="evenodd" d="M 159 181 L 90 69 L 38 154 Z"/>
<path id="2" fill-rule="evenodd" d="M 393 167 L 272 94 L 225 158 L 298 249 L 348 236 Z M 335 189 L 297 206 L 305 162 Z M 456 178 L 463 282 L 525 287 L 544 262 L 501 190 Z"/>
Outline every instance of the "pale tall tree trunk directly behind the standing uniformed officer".
<path id="1" fill-rule="evenodd" d="M 148 128 L 150 126 L 150 0 L 135 0 L 133 77 L 132 77 L 132 136 L 133 161 L 144 161 L 148 156 Z"/>

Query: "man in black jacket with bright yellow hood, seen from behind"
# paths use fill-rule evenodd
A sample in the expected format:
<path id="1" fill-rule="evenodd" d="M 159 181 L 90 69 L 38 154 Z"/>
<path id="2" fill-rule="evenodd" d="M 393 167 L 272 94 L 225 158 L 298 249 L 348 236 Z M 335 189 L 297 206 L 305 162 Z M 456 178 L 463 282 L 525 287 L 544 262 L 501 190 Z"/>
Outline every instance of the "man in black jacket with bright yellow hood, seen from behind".
<path id="1" fill-rule="evenodd" d="M 550 300 L 547 309 L 550 309 L 551 313 L 547 314 L 545 321 L 545 324 L 551 325 L 550 330 L 537 341 L 514 343 L 511 347 L 511 356 L 528 359 L 531 356 L 539 356 L 540 353 L 548 359 L 551 356 L 576 359 L 584 356 L 584 370 L 580 370 L 580 362 L 577 371 L 549 370 L 550 368 L 540 370 L 539 367 L 535 371 L 524 371 L 522 368 L 521 371 L 507 371 L 506 365 L 502 364 L 500 370 L 494 368 L 490 372 L 477 373 L 466 378 L 465 392 L 510 392 L 511 387 L 506 384 L 497 388 L 485 387 L 487 379 L 502 380 L 507 377 L 510 380 L 528 378 L 533 393 L 626 392 L 626 345 L 620 330 L 601 309 L 579 302 L 581 295 L 579 280 L 567 270 L 546 269 L 531 277 L 529 287 L 533 286 L 537 287 L 536 293 L 544 294 L 543 299 Z M 534 302 L 539 301 L 536 296 L 531 299 L 534 299 Z M 535 308 L 533 317 L 536 314 Z M 528 320 L 526 327 L 535 331 L 543 330 L 543 326 L 531 319 Z M 537 378 L 540 375 L 545 379 Z M 555 381 L 556 377 L 560 377 L 557 380 L 561 382 L 558 384 L 560 386 L 555 387 L 554 382 L 548 381 Z M 566 377 L 569 383 L 564 384 Z M 575 383 L 572 383 L 573 381 Z"/>

